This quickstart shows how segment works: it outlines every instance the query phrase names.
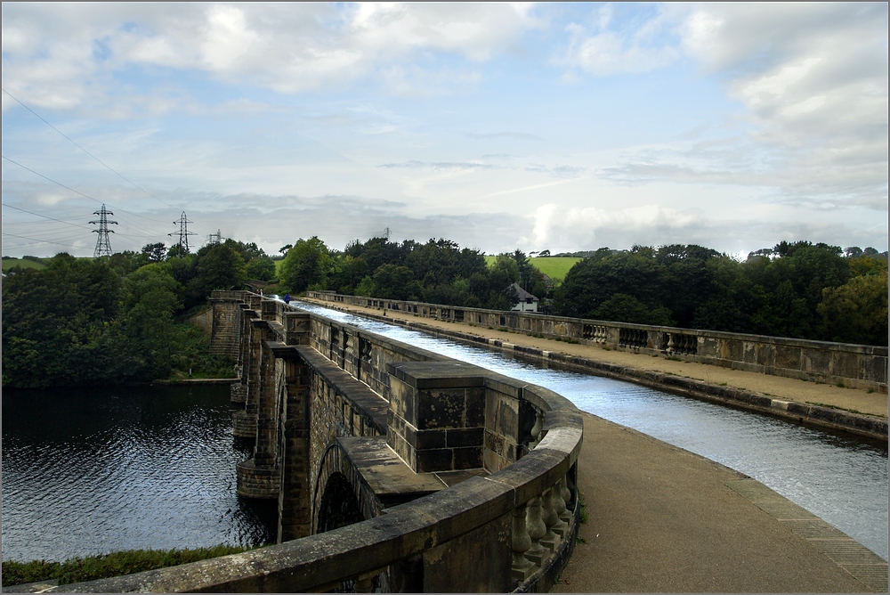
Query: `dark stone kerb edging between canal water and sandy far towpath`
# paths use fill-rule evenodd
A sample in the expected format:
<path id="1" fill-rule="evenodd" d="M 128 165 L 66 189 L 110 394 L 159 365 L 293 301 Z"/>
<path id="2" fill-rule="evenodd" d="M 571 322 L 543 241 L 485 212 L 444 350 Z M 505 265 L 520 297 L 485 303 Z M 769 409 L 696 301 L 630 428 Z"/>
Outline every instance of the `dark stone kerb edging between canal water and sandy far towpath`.
<path id="1" fill-rule="evenodd" d="M 311 300 L 306 300 L 311 301 Z M 675 395 L 690 396 L 705 401 L 712 401 L 748 409 L 773 417 L 782 418 L 797 423 L 809 423 L 821 428 L 831 428 L 866 436 L 869 438 L 887 441 L 887 420 L 877 416 L 864 415 L 862 413 L 846 412 L 830 407 L 821 407 L 809 403 L 797 403 L 784 399 L 773 398 L 753 391 L 735 387 L 724 387 L 709 384 L 702 380 L 688 379 L 682 376 L 666 374 L 658 371 L 641 370 L 630 366 L 621 366 L 613 363 L 596 362 L 586 357 L 565 355 L 554 351 L 544 351 L 536 347 L 519 346 L 502 341 L 473 335 L 460 330 L 439 329 L 423 322 L 403 321 L 390 316 L 362 312 L 357 314 L 341 306 L 334 306 L 328 302 L 320 306 L 340 310 L 348 314 L 365 316 L 379 322 L 398 324 L 414 330 L 420 330 L 428 334 L 455 338 L 474 346 L 487 346 L 505 352 L 514 352 L 533 359 L 546 362 L 560 363 L 579 371 L 594 371 L 609 378 L 627 380 L 646 387 L 664 390 Z"/>

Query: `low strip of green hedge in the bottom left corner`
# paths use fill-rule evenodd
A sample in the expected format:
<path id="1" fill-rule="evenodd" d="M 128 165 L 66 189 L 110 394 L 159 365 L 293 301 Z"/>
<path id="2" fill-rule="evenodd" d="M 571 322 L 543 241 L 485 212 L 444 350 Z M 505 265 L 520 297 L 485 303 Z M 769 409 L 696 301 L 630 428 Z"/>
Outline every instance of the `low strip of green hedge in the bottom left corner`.
<path id="1" fill-rule="evenodd" d="M 198 562 L 209 558 L 218 558 L 247 551 L 229 545 L 217 545 L 212 548 L 196 550 L 125 550 L 116 551 L 104 556 L 88 556 L 72 558 L 64 562 L 16 562 L 4 560 L 3 586 L 13 584 L 36 583 L 56 579 L 59 584 L 83 583 L 111 576 L 132 575 L 137 572 L 178 566 L 189 562 Z"/>

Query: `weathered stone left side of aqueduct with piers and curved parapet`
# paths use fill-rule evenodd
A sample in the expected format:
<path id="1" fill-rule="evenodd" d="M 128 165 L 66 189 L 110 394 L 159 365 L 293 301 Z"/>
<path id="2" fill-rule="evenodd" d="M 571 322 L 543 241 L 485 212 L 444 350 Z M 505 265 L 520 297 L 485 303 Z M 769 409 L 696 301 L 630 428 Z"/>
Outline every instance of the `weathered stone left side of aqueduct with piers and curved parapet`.
<path id="1" fill-rule="evenodd" d="M 278 500 L 278 544 L 66 591 L 549 590 L 578 532 L 572 403 L 246 291 L 211 302 L 255 439 L 238 493 Z"/>

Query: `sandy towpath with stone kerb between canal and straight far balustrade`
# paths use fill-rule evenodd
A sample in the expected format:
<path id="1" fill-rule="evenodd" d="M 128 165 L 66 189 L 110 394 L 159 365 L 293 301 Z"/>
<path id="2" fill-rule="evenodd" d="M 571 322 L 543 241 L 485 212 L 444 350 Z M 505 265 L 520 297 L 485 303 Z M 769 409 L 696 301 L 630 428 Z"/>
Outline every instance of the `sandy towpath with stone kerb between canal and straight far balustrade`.
<path id="1" fill-rule="evenodd" d="M 792 421 L 805 421 L 861 436 L 887 439 L 887 395 L 859 388 L 732 370 L 665 356 L 613 351 L 522 333 L 494 330 L 467 322 L 446 322 L 379 308 L 332 304 L 301 298 L 318 306 L 402 324 L 475 345 L 514 351 L 617 379 L 707 399 Z"/>

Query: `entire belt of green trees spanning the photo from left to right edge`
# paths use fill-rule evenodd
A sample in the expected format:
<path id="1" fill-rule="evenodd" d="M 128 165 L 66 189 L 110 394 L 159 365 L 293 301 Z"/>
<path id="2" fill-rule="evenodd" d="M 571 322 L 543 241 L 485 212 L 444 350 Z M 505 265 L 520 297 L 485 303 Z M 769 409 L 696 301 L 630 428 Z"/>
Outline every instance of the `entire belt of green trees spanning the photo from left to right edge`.
<path id="1" fill-rule="evenodd" d="M 3 386 L 138 382 L 179 371 L 225 374 L 182 318 L 214 289 L 334 290 L 348 295 L 509 310 L 514 283 L 550 314 L 703 330 L 887 345 L 887 257 L 874 249 L 781 242 L 744 261 L 695 245 L 598 249 L 562 282 L 522 251 L 490 265 L 481 251 L 432 239 L 296 240 L 278 263 L 255 243 L 196 253 L 149 244 L 98 259 L 62 253 L 3 283 Z M 203 341 L 203 343 L 202 343 Z"/>

